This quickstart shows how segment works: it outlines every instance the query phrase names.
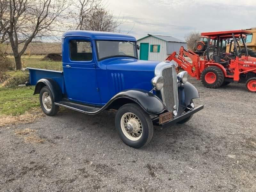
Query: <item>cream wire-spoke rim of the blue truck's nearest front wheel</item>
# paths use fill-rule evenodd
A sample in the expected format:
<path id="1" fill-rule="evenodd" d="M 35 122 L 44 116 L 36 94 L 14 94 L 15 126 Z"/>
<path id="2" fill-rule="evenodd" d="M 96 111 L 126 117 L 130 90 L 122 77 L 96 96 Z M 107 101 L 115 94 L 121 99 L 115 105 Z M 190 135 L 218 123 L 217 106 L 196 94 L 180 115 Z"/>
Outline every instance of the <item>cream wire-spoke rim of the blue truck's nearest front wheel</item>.
<path id="1" fill-rule="evenodd" d="M 142 135 L 142 124 L 138 116 L 133 113 L 124 113 L 121 117 L 121 129 L 129 140 L 139 140 Z"/>

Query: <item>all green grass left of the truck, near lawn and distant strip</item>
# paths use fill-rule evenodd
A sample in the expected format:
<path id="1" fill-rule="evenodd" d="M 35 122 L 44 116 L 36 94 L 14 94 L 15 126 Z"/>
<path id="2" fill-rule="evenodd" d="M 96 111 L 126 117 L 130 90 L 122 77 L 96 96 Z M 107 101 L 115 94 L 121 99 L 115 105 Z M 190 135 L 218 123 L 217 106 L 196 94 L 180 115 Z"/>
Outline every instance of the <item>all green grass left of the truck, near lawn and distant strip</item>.
<path id="1" fill-rule="evenodd" d="M 14 63 L 14 58 L 9 56 Z M 22 68 L 41 68 L 62 71 L 61 62 L 42 61 L 44 55 L 25 55 L 22 56 Z M 19 75 L 21 72 L 7 72 L 12 76 Z M 33 87 L 34 89 L 34 87 Z M 4 88 L 0 85 L 0 116 L 18 116 L 24 114 L 31 108 L 40 107 L 38 95 L 33 96 L 33 91 L 28 87 Z"/>

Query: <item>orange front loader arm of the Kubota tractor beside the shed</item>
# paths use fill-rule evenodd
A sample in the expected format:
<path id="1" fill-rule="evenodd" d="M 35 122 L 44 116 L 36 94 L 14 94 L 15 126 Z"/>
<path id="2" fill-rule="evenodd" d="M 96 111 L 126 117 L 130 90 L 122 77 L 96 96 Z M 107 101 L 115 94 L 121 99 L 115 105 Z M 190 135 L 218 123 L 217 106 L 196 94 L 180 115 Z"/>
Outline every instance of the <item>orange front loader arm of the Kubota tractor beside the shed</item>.
<path id="1" fill-rule="evenodd" d="M 190 58 L 192 63 L 188 61 L 184 56 Z M 177 52 L 173 52 L 167 57 L 166 60 L 175 61 L 178 66 L 187 71 L 190 76 L 196 77 L 196 79 L 198 80 L 200 79 L 200 56 L 193 51 L 190 51 L 187 48 L 181 46 L 180 54 L 178 54 Z"/>

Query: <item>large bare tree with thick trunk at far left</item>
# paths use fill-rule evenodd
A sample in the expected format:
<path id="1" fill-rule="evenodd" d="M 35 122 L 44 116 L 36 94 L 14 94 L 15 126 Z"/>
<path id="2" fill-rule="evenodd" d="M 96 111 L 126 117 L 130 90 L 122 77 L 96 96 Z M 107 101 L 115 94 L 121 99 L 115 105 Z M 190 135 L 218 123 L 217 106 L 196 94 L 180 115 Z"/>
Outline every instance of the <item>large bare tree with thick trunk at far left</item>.
<path id="1" fill-rule="evenodd" d="M 1 39 L 10 41 L 16 69 L 21 69 L 21 55 L 33 39 L 55 36 L 66 16 L 68 0 L 1 0 Z M 3 40 L 4 41 L 4 40 Z M 21 50 L 18 45 L 22 44 Z"/>

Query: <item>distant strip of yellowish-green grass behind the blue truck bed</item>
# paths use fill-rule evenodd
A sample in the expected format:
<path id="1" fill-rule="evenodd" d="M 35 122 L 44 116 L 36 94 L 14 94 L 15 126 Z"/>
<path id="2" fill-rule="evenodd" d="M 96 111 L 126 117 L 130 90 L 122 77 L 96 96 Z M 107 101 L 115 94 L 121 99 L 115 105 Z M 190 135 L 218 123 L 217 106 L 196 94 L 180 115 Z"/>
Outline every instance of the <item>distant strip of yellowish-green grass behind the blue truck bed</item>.
<path id="1" fill-rule="evenodd" d="M 55 71 L 62 71 L 62 62 L 61 61 L 51 61 L 51 60 L 42 60 L 45 55 L 23 55 L 21 57 L 22 68 L 39 68 L 39 69 L 48 69 Z M 15 65 L 14 57 L 8 56 L 13 65 Z"/>

